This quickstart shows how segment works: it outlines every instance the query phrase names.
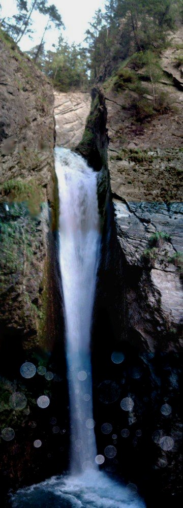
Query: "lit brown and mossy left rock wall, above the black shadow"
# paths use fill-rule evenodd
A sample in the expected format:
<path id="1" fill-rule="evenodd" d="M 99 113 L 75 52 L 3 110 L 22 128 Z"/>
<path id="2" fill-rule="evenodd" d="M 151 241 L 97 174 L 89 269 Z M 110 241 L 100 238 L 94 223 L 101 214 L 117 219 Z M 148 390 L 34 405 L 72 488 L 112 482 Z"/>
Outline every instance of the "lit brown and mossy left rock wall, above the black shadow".
<path id="1" fill-rule="evenodd" d="M 0 41 L 0 53 L 0 326 L 3 337 L 10 327 L 12 336 L 19 330 L 28 350 L 38 345 L 46 326 L 50 206 L 54 215 L 53 92 L 11 40 Z"/>

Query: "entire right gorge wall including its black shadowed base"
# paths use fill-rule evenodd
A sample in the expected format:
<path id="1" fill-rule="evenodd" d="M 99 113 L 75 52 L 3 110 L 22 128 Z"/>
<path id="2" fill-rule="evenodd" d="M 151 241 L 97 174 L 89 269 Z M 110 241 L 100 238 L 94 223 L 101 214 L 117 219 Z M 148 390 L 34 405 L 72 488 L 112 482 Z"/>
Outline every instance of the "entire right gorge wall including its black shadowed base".
<path id="1" fill-rule="evenodd" d="M 99 199 L 104 230 L 93 329 L 98 450 L 115 446 L 104 468 L 140 489 L 148 507 L 165 501 L 173 507 L 181 498 L 182 149 L 168 129 L 165 148 L 157 125 L 181 122 L 182 110 L 179 119 L 172 112 L 149 121 L 145 146 L 133 135 L 142 126 L 132 120 L 124 146 L 120 130 L 131 121 L 124 96 L 108 97 L 94 90 L 77 148 L 98 171 L 99 196 L 108 189 L 102 207 Z M 121 399 L 132 404 L 130 412 L 121 411 Z M 104 421 L 112 437 L 101 431 Z"/>

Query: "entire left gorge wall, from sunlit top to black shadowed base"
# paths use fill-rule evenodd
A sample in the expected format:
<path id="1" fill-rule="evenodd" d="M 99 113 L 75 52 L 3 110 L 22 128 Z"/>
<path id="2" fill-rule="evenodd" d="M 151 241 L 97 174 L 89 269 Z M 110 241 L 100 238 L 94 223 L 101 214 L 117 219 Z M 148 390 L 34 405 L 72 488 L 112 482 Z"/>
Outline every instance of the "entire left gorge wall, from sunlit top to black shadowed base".
<path id="1" fill-rule="evenodd" d="M 50 423 L 55 406 L 60 408 L 58 392 L 60 400 L 67 399 L 67 387 L 62 392 L 66 376 L 56 250 L 53 90 L 3 32 L 0 52 L 0 414 L 1 431 L 11 428 L 15 434 L 10 441 L 0 437 L 3 503 L 10 488 L 60 471 L 60 455 L 63 467 L 67 463 L 67 453 L 59 450 L 62 435 L 55 442 Z M 34 378 L 23 378 L 20 367 L 26 361 L 41 367 L 42 375 L 35 369 Z M 46 370 L 51 371 L 48 379 Z M 36 402 L 42 394 L 53 401 L 46 417 Z M 62 429 L 67 402 L 64 407 Z M 43 447 L 37 450 L 34 441 L 40 437 Z"/>

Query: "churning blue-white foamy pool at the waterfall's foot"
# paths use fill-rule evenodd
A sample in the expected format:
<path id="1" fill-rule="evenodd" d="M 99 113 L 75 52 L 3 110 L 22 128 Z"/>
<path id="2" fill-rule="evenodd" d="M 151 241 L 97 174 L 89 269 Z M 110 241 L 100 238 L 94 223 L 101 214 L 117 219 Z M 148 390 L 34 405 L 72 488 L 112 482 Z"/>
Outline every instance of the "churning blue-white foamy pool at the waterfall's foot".
<path id="1" fill-rule="evenodd" d="M 123 486 L 119 482 L 111 480 L 104 472 L 88 470 L 83 474 L 68 477 L 52 477 L 50 480 L 33 485 L 26 489 L 20 489 L 12 496 L 13 507 L 29 508 L 44 505 L 43 495 L 50 492 L 62 502 L 70 501 L 73 508 L 144 508 L 144 502 L 138 497 L 134 488 Z M 32 504 L 36 494 L 37 505 Z M 42 503 L 40 504 L 39 499 Z M 24 504 L 21 504 L 23 501 Z M 50 506 L 51 504 L 46 504 Z M 54 498 L 53 498 L 54 506 Z M 56 504 L 57 506 L 57 504 Z"/>

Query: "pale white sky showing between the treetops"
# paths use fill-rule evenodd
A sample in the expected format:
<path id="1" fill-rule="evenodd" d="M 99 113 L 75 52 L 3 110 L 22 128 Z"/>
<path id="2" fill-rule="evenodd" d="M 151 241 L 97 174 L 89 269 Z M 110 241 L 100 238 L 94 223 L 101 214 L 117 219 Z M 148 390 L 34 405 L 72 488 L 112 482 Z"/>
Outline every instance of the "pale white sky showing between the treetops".
<path id="1" fill-rule="evenodd" d="M 29 4 L 31 4 L 31 2 L 29 2 Z M 62 20 L 66 27 L 66 29 L 63 30 L 64 38 L 67 39 L 70 44 L 73 42 L 79 44 L 83 42 L 85 38 L 84 33 L 88 28 L 89 21 L 92 21 L 95 11 L 99 8 L 104 10 L 105 0 L 48 0 L 48 5 L 50 4 L 54 4 L 62 16 Z M 5 16 L 11 17 L 13 14 L 16 14 L 15 0 L 1 0 L 1 5 L 1 18 Z M 33 20 L 35 34 L 32 34 L 32 40 L 29 39 L 28 36 L 22 37 L 20 41 L 20 49 L 22 51 L 28 51 L 39 44 L 41 40 L 46 24 L 46 17 L 35 11 Z M 57 39 L 58 30 L 55 28 L 49 30 L 45 38 L 45 49 L 53 49 L 52 44 L 56 44 Z"/>

